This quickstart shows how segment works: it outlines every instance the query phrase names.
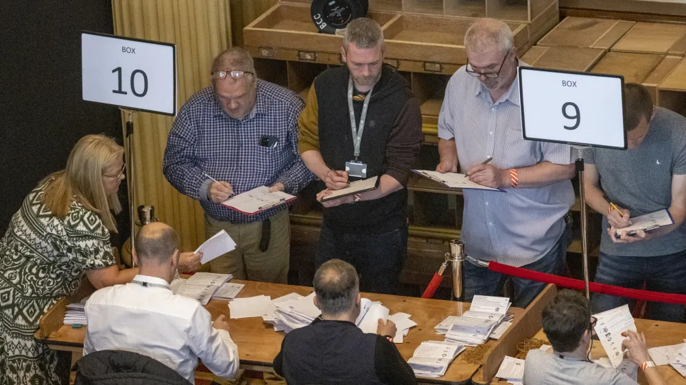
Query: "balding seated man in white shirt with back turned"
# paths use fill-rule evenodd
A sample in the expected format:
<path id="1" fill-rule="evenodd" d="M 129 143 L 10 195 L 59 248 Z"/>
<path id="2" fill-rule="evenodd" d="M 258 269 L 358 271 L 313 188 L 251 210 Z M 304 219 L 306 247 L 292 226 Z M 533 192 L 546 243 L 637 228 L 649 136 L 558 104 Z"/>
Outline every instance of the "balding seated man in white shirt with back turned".
<path id="1" fill-rule="evenodd" d="M 224 316 L 212 323 L 198 301 L 171 293 L 179 245 L 168 225 L 143 226 L 133 254 L 139 274 L 130 284 L 97 290 L 86 303 L 84 355 L 106 349 L 134 351 L 176 370 L 191 384 L 198 358 L 217 376 L 235 375 L 238 349 Z"/>

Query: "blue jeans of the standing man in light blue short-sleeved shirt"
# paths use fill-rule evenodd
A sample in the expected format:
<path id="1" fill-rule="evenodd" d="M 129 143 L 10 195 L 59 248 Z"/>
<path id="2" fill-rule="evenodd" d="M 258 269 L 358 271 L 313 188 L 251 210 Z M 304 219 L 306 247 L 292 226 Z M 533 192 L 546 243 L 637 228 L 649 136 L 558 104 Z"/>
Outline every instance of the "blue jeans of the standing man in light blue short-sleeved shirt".
<path id="1" fill-rule="evenodd" d="M 565 267 L 567 260 L 567 242 L 569 226 L 557 240 L 554 247 L 545 256 L 536 262 L 522 266 L 523 269 L 540 271 L 541 273 L 560 275 Z M 496 273 L 488 270 L 487 267 L 480 267 L 469 262 L 464 263 L 464 288 L 462 301 L 471 302 L 475 295 L 492 295 L 501 297 L 503 286 L 509 275 Z M 526 308 L 541 291 L 547 286 L 543 282 L 525 280 L 519 277 L 512 277 L 514 284 L 514 298 L 512 306 L 516 308 Z"/>

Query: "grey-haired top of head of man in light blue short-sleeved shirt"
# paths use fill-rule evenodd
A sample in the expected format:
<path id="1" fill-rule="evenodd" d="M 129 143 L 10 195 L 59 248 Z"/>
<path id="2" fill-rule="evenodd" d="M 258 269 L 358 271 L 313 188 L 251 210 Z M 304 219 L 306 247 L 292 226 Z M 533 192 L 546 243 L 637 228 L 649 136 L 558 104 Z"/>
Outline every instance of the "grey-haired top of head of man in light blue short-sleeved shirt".
<path id="1" fill-rule="evenodd" d="M 469 53 L 484 53 L 494 47 L 506 53 L 514 45 L 512 30 L 495 18 L 480 18 L 469 26 L 464 34 L 464 47 Z"/>

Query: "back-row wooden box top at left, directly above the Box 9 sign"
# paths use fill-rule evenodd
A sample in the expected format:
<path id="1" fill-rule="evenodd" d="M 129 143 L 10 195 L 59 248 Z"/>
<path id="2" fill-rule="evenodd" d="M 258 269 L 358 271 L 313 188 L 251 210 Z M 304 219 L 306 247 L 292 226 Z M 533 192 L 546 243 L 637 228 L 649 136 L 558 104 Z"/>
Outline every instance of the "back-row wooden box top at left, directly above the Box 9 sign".
<path id="1" fill-rule="evenodd" d="M 605 18 L 567 17 L 543 36 L 536 45 L 607 50 L 635 24 L 634 21 Z"/>

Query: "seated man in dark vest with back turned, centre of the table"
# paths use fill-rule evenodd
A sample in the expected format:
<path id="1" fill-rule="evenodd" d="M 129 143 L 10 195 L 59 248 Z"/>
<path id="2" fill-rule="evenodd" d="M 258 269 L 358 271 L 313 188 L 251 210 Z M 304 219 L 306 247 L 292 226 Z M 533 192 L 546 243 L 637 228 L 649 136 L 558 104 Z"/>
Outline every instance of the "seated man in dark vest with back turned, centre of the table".
<path id="1" fill-rule="evenodd" d="M 274 371 L 289 385 L 416 384 L 414 372 L 392 343 L 392 321 L 379 319 L 377 334 L 365 334 L 359 315 L 359 278 L 342 260 L 329 260 L 314 275 L 320 319 L 283 338 Z"/>

